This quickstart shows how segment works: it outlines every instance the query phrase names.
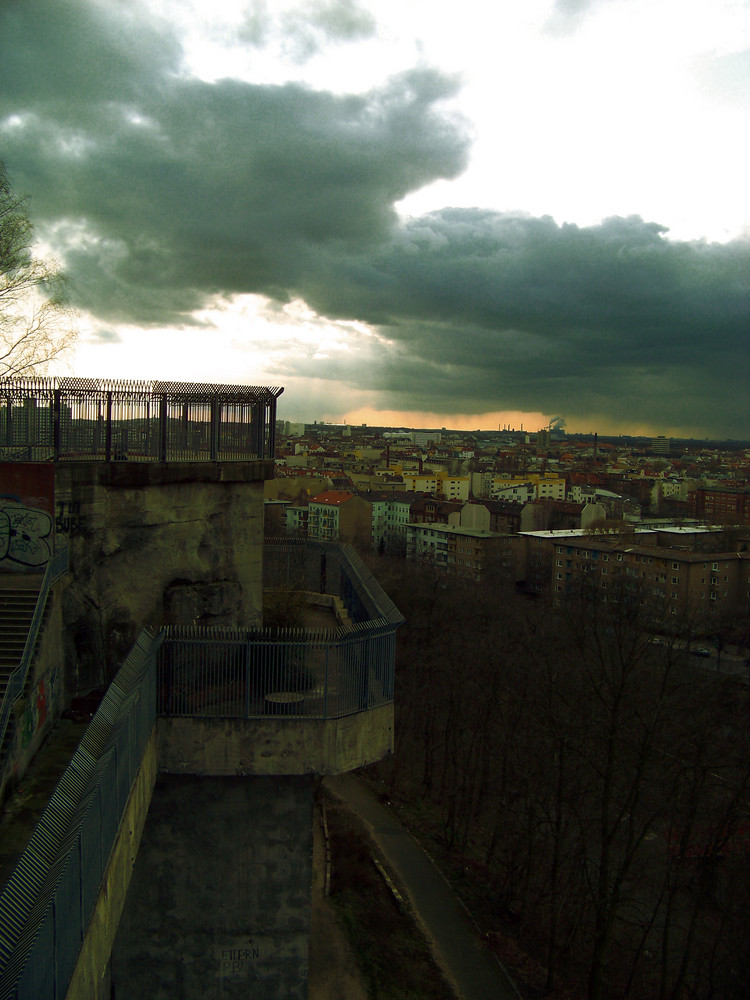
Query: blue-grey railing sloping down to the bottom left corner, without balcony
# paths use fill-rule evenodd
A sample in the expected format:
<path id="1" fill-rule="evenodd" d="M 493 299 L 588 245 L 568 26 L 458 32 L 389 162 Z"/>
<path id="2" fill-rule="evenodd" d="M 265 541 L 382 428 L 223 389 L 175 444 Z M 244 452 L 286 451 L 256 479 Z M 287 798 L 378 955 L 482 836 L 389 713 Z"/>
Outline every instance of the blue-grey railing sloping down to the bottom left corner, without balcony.
<path id="1" fill-rule="evenodd" d="M 67 992 L 154 727 L 160 641 L 141 633 L 0 896 L 0 1000 Z"/>

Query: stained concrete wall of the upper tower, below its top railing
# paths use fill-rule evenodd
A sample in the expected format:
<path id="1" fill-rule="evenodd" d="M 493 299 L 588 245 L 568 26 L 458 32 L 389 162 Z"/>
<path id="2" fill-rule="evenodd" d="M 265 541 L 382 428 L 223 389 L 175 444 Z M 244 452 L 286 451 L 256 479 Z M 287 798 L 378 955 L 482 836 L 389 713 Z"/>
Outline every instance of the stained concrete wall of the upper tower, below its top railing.
<path id="1" fill-rule="evenodd" d="M 56 466 L 71 692 L 106 683 L 145 623 L 260 624 L 272 476 L 268 461 Z"/>

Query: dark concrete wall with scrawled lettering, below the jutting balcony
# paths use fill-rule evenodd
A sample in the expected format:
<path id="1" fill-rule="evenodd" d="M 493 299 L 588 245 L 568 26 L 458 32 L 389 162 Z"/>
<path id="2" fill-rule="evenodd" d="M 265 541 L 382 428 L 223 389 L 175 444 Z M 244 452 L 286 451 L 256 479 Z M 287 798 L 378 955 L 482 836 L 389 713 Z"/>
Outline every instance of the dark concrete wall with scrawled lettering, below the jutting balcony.
<path id="1" fill-rule="evenodd" d="M 117 1000 L 302 1000 L 311 778 L 160 776 L 112 953 Z"/>

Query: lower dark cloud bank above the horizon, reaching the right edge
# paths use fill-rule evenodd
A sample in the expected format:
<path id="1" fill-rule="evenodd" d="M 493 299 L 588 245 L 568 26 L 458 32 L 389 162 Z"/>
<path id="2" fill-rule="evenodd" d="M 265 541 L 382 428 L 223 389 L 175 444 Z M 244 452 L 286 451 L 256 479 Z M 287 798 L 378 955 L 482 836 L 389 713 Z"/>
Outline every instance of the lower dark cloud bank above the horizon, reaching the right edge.
<path id="1" fill-rule="evenodd" d="M 391 406 L 672 426 L 710 414 L 748 434 L 748 242 L 671 242 L 639 218 L 582 228 L 452 209 L 342 262 L 338 279 L 300 293 L 328 314 L 356 306 L 394 343 L 369 372 Z"/>

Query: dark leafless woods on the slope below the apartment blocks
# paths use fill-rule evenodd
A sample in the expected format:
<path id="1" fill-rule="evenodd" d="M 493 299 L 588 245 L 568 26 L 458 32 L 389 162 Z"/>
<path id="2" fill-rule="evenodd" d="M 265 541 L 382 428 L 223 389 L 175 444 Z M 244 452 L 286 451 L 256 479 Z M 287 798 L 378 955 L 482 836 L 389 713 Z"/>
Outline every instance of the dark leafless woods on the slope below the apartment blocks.
<path id="1" fill-rule="evenodd" d="M 550 608 L 378 564 L 400 632 L 395 799 L 426 797 L 546 989 L 745 997 L 750 698 L 632 593 Z M 492 928 L 487 928 L 492 930 Z"/>

